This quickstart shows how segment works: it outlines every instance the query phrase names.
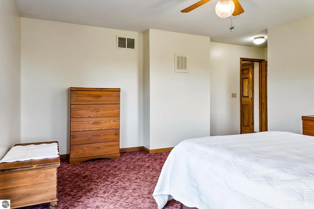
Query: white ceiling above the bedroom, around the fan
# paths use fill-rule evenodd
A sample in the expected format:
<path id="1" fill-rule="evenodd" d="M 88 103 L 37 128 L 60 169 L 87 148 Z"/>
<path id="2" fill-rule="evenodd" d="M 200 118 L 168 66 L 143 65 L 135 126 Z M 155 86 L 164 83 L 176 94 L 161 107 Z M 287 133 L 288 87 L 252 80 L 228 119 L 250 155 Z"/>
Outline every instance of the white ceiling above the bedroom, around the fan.
<path id="1" fill-rule="evenodd" d="M 15 0 L 21 17 L 143 32 L 148 28 L 209 36 L 212 42 L 257 46 L 267 28 L 314 14 L 314 0 L 239 0 L 245 12 L 233 20 L 215 14 L 218 0 L 189 13 L 199 0 Z M 231 21 L 235 28 L 229 30 Z M 313 25 L 309 25 L 312 27 Z M 267 42 L 259 47 L 267 47 Z"/>

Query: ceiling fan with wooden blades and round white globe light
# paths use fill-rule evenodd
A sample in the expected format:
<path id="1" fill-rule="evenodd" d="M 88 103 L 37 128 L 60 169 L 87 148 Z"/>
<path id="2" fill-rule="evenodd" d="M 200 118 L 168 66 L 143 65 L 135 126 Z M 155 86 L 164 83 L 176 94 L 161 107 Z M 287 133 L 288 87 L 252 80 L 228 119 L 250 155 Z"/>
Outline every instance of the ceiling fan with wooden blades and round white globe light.
<path id="1" fill-rule="evenodd" d="M 181 12 L 190 12 L 199 6 L 209 2 L 210 0 L 200 0 L 199 2 L 181 10 Z M 216 4 L 216 14 L 221 18 L 227 18 L 231 15 L 237 16 L 244 12 L 238 0 L 219 0 Z"/>

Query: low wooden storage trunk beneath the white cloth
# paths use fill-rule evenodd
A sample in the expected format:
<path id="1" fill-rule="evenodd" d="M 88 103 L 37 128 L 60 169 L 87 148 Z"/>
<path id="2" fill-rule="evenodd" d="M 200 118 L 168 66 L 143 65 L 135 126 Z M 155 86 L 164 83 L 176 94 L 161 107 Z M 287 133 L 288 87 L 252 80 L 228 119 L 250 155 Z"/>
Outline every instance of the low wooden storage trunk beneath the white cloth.
<path id="1" fill-rule="evenodd" d="M 58 143 L 31 144 L 53 142 Z M 11 209 L 49 202 L 52 207 L 56 207 L 59 165 L 60 157 L 0 163 L 0 198 L 10 200 Z"/>

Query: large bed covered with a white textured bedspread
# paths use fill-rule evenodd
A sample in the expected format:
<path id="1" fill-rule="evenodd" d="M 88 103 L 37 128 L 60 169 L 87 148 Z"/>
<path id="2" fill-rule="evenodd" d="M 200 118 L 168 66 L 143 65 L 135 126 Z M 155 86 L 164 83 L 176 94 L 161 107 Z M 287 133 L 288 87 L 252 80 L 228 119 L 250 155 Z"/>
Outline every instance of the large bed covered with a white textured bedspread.
<path id="1" fill-rule="evenodd" d="M 186 139 L 153 192 L 198 209 L 314 209 L 314 137 L 260 132 Z"/>

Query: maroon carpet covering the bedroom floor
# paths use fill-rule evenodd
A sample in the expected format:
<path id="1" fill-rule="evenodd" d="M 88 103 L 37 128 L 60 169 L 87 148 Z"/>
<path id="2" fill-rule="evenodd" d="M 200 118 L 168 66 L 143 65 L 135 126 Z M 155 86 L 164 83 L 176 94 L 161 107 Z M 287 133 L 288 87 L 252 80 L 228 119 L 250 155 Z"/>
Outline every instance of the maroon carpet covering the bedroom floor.
<path id="1" fill-rule="evenodd" d="M 58 209 L 157 209 L 152 194 L 169 152 L 121 153 L 119 159 L 99 159 L 58 168 Z M 48 209 L 41 204 L 23 209 Z M 180 209 L 169 201 L 164 209 Z"/>

